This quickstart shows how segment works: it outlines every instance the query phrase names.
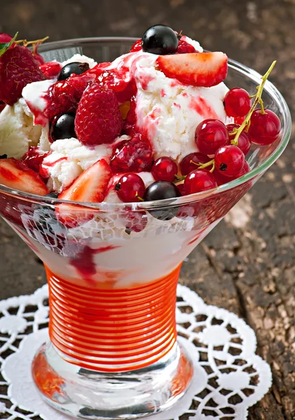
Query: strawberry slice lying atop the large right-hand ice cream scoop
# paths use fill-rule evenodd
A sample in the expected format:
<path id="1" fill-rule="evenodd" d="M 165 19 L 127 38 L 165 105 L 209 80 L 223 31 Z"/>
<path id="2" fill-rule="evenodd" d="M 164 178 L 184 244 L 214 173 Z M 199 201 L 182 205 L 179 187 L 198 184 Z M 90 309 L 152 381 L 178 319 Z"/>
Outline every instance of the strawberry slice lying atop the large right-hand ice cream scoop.
<path id="1" fill-rule="evenodd" d="M 185 85 L 211 87 L 226 78 L 228 57 L 224 52 L 160 55 L 156 66 L 165 76 Z"/>

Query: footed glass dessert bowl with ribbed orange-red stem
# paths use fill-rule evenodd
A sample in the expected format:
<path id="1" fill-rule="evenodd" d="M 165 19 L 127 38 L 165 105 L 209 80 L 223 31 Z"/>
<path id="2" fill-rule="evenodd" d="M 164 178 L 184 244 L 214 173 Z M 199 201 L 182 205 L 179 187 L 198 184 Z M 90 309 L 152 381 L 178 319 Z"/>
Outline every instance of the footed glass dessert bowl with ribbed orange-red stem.
<path id="1" fill-rule="evenodd" d="M 84 38 L 41 45 L 39 52 L 46 61 L 78 52 L 111 62 L 134 42 Z M 261 76 L 229 60 L 226 80 L 254 94 Z M 289 141 L 282 95 L 267 81 L 262 97 L 280 118 L 280 137 L 253 144 L 250 172 L 217 188 L 159 201 L 77 203 L 0 186 L 1 216 L 46 267 L 50 341 L 36 354 L 32 375 L 50 405 L 88 419 L 136 419 L 184 395 L 194 360 L 177 343 L 181 262 Z"/>

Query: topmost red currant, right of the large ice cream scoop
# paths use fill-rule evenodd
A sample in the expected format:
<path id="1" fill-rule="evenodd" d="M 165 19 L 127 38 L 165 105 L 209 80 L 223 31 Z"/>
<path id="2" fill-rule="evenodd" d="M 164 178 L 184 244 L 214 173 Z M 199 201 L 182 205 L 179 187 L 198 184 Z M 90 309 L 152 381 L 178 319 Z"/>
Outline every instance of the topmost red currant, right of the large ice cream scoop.
<path id="1" fill-rule="evenodd" d="M 229 117 L 245 117 L 251 109 L 251 99 L 247 90 L 234 87 L 224 97 L 224 108 Z"/>

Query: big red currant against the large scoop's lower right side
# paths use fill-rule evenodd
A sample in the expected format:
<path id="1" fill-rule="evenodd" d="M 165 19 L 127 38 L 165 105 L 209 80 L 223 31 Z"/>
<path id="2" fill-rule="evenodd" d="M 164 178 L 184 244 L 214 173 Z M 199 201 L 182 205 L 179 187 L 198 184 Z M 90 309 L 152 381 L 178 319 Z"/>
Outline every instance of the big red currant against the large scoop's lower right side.
<path id="1" fill-rule="evenodd" d="M 214 155 L 217 149 L 228 144 L 228 131 L 219 120 L 204 120 L 195 130 L 195 144 L 200 153 Z"/>

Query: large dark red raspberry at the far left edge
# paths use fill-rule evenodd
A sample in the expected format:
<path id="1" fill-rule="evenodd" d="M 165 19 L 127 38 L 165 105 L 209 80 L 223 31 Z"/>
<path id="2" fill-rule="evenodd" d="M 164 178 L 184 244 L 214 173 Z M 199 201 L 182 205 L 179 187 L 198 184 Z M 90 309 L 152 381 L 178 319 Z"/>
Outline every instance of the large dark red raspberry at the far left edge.
<path id="1" fill-rule="evenodd" d="M 13 105 L 22 97 L 22 89 L 44 80 L 32 52 L 21 45 L 8 48 L 0 57 L 0 100 Z"/>

